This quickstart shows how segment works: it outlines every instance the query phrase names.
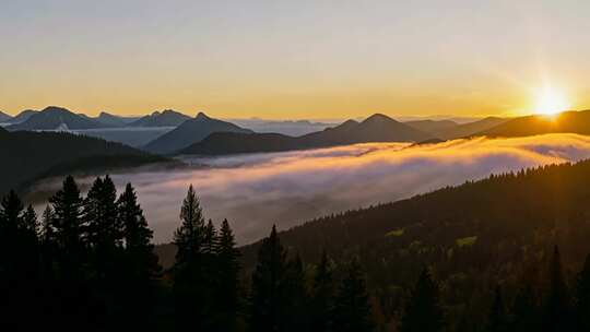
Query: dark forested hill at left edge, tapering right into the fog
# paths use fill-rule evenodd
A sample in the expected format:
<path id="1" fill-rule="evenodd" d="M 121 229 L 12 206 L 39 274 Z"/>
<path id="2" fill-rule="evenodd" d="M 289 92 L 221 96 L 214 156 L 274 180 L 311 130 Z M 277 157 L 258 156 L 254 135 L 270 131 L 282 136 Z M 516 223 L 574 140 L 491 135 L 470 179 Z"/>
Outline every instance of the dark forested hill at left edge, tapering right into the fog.
<path id="1" fill-rule="evenodd" d="M 120 143 L 64 132 L 0 129 L 0 194 L 49 176 L 169 162 Z"/>

